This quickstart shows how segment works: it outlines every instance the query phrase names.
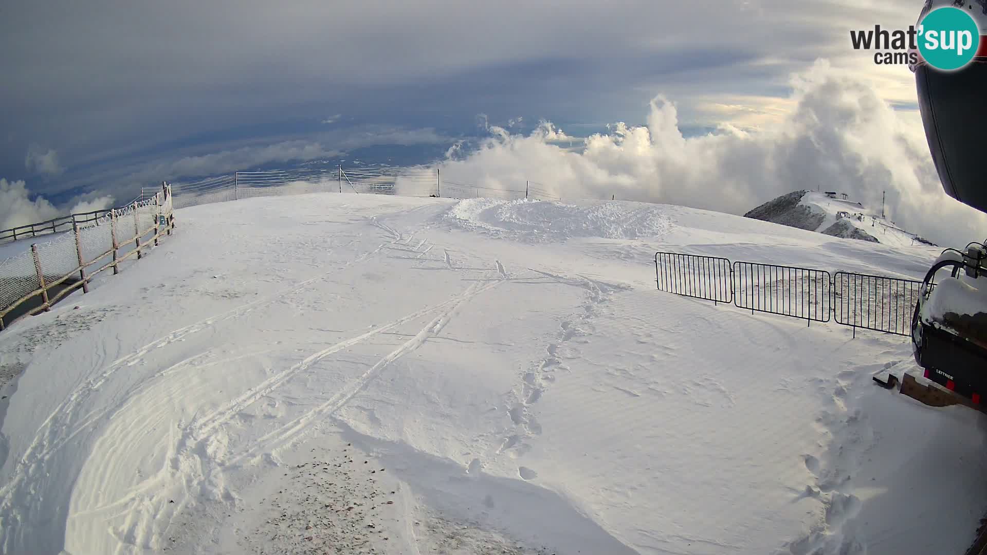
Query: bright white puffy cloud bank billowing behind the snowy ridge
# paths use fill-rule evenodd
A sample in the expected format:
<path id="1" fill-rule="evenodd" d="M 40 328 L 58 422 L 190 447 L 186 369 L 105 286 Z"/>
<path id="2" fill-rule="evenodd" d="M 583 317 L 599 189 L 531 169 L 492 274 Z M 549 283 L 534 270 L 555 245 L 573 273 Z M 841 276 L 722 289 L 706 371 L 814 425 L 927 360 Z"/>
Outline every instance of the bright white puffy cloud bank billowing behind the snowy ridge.
<path id="1" fill-rule="evenodd" d="M 771 129 L 724 125 L 686 138 L 675 105 L 650 103 L 646 124 L 617 123 L 577 150 L 543 122 L 527 135 L 484 123 L 492 136 L 442 163 L 450 181 L 523 190 L 526 180 L 562 198 L 668 202 L 742 214 L 795 190 L 847 193 L 938 243 L 987 236 L 987 214 L 942 190 L 921 123 L 895 112 L 867 81 L 817 61 L 791 80 L 793 109 Z M 450 151 L 450 156 L 456 152 Z"/>

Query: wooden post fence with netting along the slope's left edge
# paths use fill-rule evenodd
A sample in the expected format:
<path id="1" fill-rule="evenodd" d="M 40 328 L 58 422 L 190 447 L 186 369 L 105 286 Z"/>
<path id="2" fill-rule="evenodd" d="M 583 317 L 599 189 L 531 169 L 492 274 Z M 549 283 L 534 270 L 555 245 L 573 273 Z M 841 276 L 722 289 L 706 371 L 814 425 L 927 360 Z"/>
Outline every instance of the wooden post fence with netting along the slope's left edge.
<path id="1" fill-rule="evenodd" d="M 50 310 L 54 303 L 77 288 L 81 287 L 84 293 L 89 292 L 89 282 L 94 276 L 111 268 L 114 275 L 118 274 L 121 262 L 132 256 L 139 260 L 143 255 L 141 249 L 152 243 L 158 245 L 159 239 L 164 235 L 171 235 L 175 228 L 172 192 L 168 185 L 163 185 L 162 191 L 152 198 L 134 201 L 122 208 L 98 211 L 104 212 L 103 216 L 87 220 L 88 225 L 80 225 L 79 221 L 69 219 L 71 235 L 60 237 L 40 248 L 38 244 L 32 244 L 30 260 L 28 253 L 24 253 L 0 263 L 0 330 L 24 316 Z M 109 241 L 103 243 L 99 235 L 106 234 L 108 228 Z M 144 240 L 149 234 L 150 237 Z M 101 250 L 96 253 L 87 252 L 92 246 Z M 66 255 L 71 251 L 74 251 L 71 253 L 74 255 L 73 260 L 71 264 L 66 264 Z M 101 262 L 104 262 L 102 266 L 90 271 L 91 267 Z M 26 276 L 24 272 L 17 272 L 18 269 L 29 268 L 31 263 L 34 266 L 34 275 Z M 46 272 L 45 266 L 57 269 L 57 273 Z M 2 282 L 5 279 L 8 283 Z M 31 290 L 24 292 L 28 283 L 31 283 Z M 56 291 L 55 294 L 49 296 L 49 291 L 53 290 Z M 23 294 L 16 298 L 4 298 L 10 297 L 12 293 Z M 29 307 L 17 314 L 19 307 L 38 296 L 40 303 L 37 307 Z M 12 313 L 17 315 L 4 322 L 5 317 Z"/>

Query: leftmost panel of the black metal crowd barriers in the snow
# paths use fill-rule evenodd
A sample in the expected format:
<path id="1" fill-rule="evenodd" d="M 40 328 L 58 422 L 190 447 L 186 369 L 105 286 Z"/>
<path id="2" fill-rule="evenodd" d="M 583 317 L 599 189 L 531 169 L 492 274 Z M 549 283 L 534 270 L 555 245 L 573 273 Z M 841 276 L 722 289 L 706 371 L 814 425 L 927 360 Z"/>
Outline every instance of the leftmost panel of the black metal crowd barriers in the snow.
<path id="1" fill-rule="evenodd" d="M 724 258 L 655 253 L 658 289 L 715 302 L 731 302 L 730 261 Z"/>

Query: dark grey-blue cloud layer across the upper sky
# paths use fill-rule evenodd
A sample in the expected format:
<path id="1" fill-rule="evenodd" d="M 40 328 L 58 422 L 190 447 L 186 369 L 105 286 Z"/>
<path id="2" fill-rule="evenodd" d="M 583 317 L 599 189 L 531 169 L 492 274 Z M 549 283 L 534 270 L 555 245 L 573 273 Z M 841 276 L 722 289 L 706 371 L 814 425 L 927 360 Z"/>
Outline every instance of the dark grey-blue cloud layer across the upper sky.
<path id="1" fill-rule="evenodd" d="M 642 99 L 657 90 L 688 124 L 736 119 L 747 129 L 763 126 L 763 115 L 705 114 L 691 99 L 727 107 L 719 112 L 770 99 L 817 56 L 880 78 L 885 99 L 914 102 L 907 71 L 874 66 L 848 31 L 907 26 L 921 9 L 921 0 L 572 0 L 562 11 L 520 0 L 58 4 L 14 3 L 0 18 L 0 50 L 19 54 L 0 56 L 0 74 L 18 76 L 0 87 L 5 129 L 17 136 L 0 149 L 0 175 L 23 169 L 16 146 L 57 144 L 75 171 L 43 184 L 52 189 L 174 159 L 203 137 L 318 133 L 349 120 L 463 130 L 486 112 L 514 132 L 507 118 L 522 115 L 640 123 Z M 345 118 L 320 123 L 337 113 Z"/>

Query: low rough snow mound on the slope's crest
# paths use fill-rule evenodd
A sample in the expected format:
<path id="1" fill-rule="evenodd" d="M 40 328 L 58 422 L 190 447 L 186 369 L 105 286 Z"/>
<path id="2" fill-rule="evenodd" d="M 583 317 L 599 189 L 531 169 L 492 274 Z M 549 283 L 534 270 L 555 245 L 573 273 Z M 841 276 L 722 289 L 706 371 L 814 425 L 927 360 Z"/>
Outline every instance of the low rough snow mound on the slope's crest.
<path id="1" fill-rule="evenodd" d="M 542 240 L 653 239 L 671 229 L 661 204 L 610 201 L 569 204 L 547 200 L 467 198 L 443 214 L 454 225 L 493 235 Z"/>

